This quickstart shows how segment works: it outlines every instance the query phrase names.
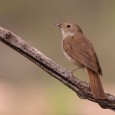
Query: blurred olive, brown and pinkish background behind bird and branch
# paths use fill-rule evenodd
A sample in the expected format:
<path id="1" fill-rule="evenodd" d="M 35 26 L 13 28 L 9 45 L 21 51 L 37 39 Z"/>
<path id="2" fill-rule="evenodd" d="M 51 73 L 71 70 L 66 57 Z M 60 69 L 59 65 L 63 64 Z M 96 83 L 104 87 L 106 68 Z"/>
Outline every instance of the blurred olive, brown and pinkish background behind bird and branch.
<path id="1" fill-rule="evenodd" d="M 75 22 L 93 43 L 103 70 L 105 92 L 115 95 L 115 0 L 0 0 L 0 26 L 9 29 L 62 67 L 54 22 Z M 86 73 L 74 73 L 87 80 Z M 0 42 L 0 115 L 114 115 L 82 100 L 68 87 Z"/>

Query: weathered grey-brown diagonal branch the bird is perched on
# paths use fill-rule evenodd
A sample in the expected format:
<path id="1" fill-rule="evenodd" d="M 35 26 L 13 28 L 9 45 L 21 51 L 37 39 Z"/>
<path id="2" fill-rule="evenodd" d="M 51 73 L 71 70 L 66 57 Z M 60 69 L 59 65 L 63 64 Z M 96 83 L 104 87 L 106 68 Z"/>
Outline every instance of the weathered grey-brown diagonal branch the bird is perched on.
<path id="1" fill-rule="evenodd" d="M 80 98 L 96 102 L 104 109 L 111 109 L 115 111 L 115 96 L 106 93 L 106 99 L 104 100 L 93 98 L 87 82 L 79 80 L 72 75 L 71 72 L 65 70 L 36 48 L 30 46 L 23 39 L 2 27 L 0 27 L 0 41 L 34 62 L 52 77 L 61 81 L 63 84 L 76 92 Z"/>

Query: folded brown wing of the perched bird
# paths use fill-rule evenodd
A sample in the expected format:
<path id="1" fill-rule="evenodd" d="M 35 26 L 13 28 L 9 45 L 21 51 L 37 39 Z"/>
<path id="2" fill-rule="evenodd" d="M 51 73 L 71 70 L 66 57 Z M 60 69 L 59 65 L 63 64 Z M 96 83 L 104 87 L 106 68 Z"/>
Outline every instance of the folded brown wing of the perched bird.
<path id="1" fill-rule="evenodd" d="M 66 37 L 65 40 L 63 40 L 63 49 L 76 62 L 102 74 L 93 46 L 83 35 L 77 37 Z"/>

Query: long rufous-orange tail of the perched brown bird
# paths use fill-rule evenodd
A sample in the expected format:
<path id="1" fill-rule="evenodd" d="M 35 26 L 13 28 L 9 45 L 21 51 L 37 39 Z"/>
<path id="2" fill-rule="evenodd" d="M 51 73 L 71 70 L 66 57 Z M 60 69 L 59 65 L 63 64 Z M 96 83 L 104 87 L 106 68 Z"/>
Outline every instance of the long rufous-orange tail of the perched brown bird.
<path id="1" fill-rule="evenodd" d="M 90 87 L 93 94 L 93 97 L 96 99 L 104 99 L 105 93 L 103 90 L 103 86 L 100 80 L 100 76 L 98 73 L 93 72 L 92 70 L 86 68 L 89 81 L 90 81 Z"/>

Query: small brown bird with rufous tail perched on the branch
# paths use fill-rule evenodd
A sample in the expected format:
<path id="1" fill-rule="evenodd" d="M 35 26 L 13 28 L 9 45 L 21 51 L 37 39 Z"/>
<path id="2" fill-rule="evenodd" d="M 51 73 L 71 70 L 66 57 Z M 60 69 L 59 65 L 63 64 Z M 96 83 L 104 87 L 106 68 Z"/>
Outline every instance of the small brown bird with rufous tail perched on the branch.
<path id="1" fill-rule="evenodd" d="M 104 99 L 105 93 L 100 80 L 102 70 L 92 43 L 77 24 L 66 22 L 56 25 L 62 31 L 62 51 L 65 57 L 78 68 L 85 68 L 93 97 Z"/>

